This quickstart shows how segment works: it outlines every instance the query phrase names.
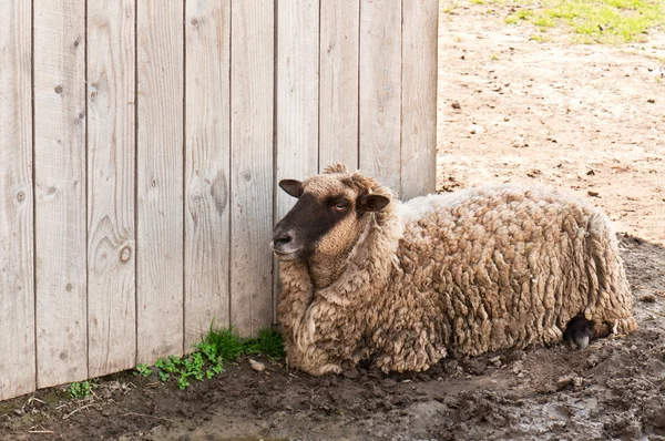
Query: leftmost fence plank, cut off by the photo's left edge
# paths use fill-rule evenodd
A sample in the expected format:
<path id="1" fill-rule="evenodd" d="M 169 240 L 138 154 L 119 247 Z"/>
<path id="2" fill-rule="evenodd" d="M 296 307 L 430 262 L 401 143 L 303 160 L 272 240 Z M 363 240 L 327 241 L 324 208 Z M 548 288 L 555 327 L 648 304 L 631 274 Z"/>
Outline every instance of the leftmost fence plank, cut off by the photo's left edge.
<path id="1" fill-rule="evenodd" d="M 30 17 L 0 0 L 0 400 L 35 387 Z"/>

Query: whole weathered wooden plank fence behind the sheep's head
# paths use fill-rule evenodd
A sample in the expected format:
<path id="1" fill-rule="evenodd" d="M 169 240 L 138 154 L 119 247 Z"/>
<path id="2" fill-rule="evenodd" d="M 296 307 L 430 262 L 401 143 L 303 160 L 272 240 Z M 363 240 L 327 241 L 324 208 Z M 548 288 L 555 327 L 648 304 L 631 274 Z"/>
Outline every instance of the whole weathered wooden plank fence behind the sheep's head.
<path id="1" fill-rule="evenodd" d="M 433 189 L 437 0 L 0 0 L 0 399 L 274 320 L 276 191 Z"/>

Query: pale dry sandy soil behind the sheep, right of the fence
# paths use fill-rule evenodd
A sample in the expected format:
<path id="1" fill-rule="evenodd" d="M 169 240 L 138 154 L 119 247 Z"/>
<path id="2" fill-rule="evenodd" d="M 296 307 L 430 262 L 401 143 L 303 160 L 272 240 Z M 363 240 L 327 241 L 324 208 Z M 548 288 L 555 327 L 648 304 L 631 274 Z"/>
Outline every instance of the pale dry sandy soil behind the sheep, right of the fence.
<path id="1" fill-rule="evenodd" d="M 438 189 L 546 183 L 665 245 L 665 29 L 623 48 L 538 43 L 509 11 L 440 16 Z"/>

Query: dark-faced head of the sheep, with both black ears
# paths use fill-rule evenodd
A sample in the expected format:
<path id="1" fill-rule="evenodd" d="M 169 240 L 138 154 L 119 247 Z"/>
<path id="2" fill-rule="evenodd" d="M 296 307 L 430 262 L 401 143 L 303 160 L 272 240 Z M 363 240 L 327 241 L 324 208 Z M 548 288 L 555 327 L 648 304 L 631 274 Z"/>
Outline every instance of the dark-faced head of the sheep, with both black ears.
<path id="1" fill-rule="evenodd" d="M 298 198 L 273 233 L 273 250 L 279 260 L 344 255 L 360 237 L 368 214 L 390 203 L 389 193 L 376 194 L 383 187 L 374 178 L 349 173 L 342 164 L 330 165 L 304 182 L 280 181 L 279 187 Z"/>

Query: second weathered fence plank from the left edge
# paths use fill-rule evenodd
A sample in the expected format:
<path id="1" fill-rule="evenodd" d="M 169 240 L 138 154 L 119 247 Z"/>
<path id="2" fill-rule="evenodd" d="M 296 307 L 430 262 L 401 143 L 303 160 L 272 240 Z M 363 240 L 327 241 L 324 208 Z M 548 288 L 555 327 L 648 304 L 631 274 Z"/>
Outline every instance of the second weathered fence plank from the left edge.
<path id="1" fill-rule="evenodd" d="M 85 3 L 35 0 L 37 386 L 88 377 Z"/>

